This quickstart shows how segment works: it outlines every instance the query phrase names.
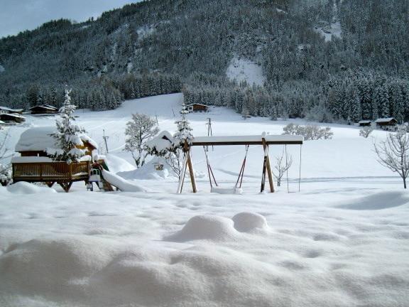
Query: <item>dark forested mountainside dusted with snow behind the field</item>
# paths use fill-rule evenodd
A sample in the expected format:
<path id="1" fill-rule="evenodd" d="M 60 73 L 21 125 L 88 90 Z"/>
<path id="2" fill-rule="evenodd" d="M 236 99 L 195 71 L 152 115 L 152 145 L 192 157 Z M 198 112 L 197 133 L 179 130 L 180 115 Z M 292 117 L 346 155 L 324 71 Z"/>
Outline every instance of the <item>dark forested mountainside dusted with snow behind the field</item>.
<path id="1" fill-rule="evenodd" d="M 183 91 L 237 112 L 320 121 L 409 119 L 405 0 L 151 0 L 0 40 L 0 104 L 80 107 Z M 339 31 L 335 29 L 339 28 Z M 227 77 L 234 59 L 264 85 Z"/>

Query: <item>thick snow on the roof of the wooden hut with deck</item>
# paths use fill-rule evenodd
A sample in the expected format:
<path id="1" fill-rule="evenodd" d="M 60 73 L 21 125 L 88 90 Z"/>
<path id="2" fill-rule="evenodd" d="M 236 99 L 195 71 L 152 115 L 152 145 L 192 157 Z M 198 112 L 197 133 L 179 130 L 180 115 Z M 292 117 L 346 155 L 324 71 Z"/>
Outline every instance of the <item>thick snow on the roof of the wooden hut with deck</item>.
<path id="1" fill-rule="evenodd" d="M 40 126 L 24 131 L 16 144 L 16 151 L 47 151 L 47 149 L 55 149 L 55 139 L 51 134 L 56 133 L 55 126 Z M 98 148 L 97 143 L 89 136 L 80 135 L 82 141 L 88 142 L 95 149 Z"/>

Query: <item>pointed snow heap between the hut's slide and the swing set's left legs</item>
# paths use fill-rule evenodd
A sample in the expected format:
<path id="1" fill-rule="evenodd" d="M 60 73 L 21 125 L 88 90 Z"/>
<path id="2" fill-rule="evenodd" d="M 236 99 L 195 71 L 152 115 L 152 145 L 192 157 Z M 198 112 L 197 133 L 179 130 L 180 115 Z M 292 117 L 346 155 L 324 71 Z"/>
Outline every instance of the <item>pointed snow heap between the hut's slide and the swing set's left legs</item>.
<path id="1" fill-rule="evenodd" d="M 157 170 L 157 166 L 163 166 L 161 170 Z M 163 180 L 177 179 L 175 173 L 163 158 L 155 157 L 151 161 L 146 162 L 141 168 L 133 171 L 118 173 L 119 176 L 125 179 L 148 179 L 148 180 Z"/>

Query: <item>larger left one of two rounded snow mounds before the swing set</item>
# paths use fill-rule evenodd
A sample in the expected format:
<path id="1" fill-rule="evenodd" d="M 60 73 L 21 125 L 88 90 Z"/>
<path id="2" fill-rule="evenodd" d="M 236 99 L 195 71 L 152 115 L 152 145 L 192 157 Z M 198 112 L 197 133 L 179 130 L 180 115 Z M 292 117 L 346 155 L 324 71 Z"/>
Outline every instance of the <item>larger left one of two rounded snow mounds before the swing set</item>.
<path id="1" fill-rule="evenodd" d="M 186 242 L 196 239 L 222 241 L 236 236 L 233 220 L 214 215 L 197 215 L 187 221 L 182 230 L 165 237 L 165 240 Z"/>

